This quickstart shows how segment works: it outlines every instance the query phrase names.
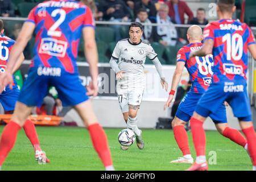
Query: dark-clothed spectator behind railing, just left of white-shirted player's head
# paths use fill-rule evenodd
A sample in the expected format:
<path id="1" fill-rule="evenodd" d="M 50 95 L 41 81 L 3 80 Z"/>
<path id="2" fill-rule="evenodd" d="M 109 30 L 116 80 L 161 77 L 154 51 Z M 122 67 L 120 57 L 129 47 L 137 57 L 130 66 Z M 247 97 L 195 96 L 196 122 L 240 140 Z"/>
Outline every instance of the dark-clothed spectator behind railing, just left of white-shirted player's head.
<path id="1" fill-rule="evenodd" d="M 110 22 L 128 22 L 130 18 L 130 12 L 122 0 L 104 0 L 99 7 L 99 11 L 102 11 L 104 14 L 103 18 Z M 115 41 L 120 40 L 120 25 L 112 27 L 115 30 Z"/>

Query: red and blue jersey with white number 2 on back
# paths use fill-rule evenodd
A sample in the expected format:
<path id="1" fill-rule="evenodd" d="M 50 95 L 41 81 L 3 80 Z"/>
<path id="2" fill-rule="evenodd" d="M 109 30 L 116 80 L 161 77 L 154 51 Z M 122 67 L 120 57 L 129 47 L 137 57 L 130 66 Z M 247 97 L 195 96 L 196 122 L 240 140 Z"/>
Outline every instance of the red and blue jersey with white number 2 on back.
<path id="1" fill-rule="evenodd" d="M 35 23 L 35 47 L 31 67 L 57 67 L 77 72 L 76 59 L 83 27 L 93 27 L 92 11 L 73 0 L 39 3 L 27 22 Z"/>

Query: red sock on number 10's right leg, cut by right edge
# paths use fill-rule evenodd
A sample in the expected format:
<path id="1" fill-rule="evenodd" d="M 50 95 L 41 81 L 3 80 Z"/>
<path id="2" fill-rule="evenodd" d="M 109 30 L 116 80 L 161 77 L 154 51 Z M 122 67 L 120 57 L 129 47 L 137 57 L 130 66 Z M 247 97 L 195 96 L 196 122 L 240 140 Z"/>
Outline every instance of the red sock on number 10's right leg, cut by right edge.
<path id="1" fill-rule="evenodd" d="M 242 130 L 248 142 L 248 151 L 250 153 L 251 161 L 253 166 L 256 166 L 256 134 L 254 127 L 251 126 L 247 129 Z"/>

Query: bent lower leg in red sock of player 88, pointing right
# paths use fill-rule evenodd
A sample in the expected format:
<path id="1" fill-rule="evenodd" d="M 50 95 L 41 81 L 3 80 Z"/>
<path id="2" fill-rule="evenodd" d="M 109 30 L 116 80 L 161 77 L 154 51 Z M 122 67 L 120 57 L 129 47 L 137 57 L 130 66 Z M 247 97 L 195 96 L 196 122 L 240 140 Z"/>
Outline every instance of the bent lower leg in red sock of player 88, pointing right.
<path id="1" fill-rule="evenodd" d="M 220 134 L 239 144 L 247 151 L 247 140 L 238 130 L 228 127 L 228 123 L 216 123 L 215 126 Z"/>

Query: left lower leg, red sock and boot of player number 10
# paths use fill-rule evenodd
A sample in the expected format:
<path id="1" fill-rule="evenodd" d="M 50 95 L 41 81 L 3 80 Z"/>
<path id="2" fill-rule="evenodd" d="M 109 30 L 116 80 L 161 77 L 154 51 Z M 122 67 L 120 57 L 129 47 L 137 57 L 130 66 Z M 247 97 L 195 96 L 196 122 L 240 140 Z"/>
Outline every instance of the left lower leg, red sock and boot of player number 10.
<path id="1" fill-rule="evenodd" d="M 187 169 L 187 171 L 206 171 L 208 170 L 208 164 L 205 156 L 205 145 L 206 145 L 206 137 L 205 131 L 203 128 L 205 118 L 201 117 L 201 115 L 196 112 L 193 114 L 191 118 L 191 132 L 193 143 L 196 150 L 196 162 Z"/>

